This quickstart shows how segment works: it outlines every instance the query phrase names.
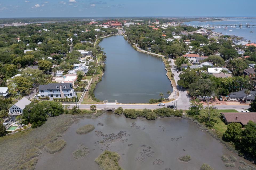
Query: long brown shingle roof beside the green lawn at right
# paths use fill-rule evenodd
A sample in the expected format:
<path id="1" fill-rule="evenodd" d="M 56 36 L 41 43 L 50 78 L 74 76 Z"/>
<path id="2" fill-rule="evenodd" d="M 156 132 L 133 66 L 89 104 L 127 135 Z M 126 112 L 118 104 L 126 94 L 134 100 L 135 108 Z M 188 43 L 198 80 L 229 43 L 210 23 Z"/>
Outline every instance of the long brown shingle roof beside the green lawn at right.
<path id="1" fill-rule="evenodd" d="M 247 125 L 249 120 L 256 122 L 256 112 L 248 113 L 221 113 L 228 123 L 237 122 Z"/>

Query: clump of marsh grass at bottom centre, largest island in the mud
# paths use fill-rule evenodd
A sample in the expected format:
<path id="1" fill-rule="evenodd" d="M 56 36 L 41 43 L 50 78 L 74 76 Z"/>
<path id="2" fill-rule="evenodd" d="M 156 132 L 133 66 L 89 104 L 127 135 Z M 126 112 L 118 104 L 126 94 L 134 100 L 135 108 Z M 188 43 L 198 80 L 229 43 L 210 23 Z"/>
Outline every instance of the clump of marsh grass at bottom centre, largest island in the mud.
<path id="1" fill-rule="evenodd" d="M 118 165 L 119 159 L 120 156 L 117 152 L 105 150 L 95 159 L 95 162 L 99 164 L 100 170 L 123 170 L 123 168 Z"/>

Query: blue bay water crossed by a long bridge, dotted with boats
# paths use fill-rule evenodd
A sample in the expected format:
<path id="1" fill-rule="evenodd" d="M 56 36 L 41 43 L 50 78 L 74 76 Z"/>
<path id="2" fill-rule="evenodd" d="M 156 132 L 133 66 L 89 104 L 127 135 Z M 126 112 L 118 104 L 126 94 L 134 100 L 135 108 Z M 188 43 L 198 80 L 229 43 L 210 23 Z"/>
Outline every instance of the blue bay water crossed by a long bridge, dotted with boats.
<path id="1" fill-rule="evenodd" d="M 199 21 L 192 21 L 192 22 L 185 22 L 184 24 L 190 25 L 190 26 L 197 26 L 197 25 L 218 25 L 218 24 L 227 24 L 227 25 L 234 25 L 234 24 L 256 24 L 256 19 L 245 19 L 245 18 L 229 18 L 223 21 L 216 21 L 216 22 L 199 22 Z M 213 31 L 215 32 L 222 32 L 223 35 L 235 35 L 244 37 L 247 40 L 251 40 L 251 42 L 256 42 L 256 26 L 250 28 L 247 28 L 245 25 L 242 27 L 242 29 L 239 28 L 239 26 L 236 26 L 236 28 L 231 28 L 230 26 L 227 28 L 227 30 L 224 29 L 225 26 L 222 28 L 216 28 Z M 232 30 L 232 31 L 229 31 Z M 250 31 L 253 31 L 251 33 Z"/>

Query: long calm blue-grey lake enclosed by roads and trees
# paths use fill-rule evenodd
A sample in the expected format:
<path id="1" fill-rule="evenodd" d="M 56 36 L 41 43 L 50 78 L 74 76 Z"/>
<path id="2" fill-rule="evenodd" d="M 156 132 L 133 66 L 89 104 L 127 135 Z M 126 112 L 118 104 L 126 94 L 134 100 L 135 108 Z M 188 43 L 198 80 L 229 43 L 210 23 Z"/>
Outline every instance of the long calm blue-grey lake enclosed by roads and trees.
<path id="1" fill-rule="evenodd" d="M 141 53 L 123 38 L 111 36 L 99 46 L 106 52 L 106 66 L 102 81 L 94 90 L 100 100 L 119 103 L 148 103 L 150 99 L 168 98 L 173 91 L 161 58 Z"/>

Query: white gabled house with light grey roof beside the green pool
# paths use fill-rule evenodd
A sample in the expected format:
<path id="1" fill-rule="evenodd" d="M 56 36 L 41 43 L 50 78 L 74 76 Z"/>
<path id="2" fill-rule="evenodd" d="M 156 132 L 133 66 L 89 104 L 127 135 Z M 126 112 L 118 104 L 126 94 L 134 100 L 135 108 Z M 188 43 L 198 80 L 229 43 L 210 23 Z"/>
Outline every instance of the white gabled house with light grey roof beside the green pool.
<path id="1" fill-rule="evenodd" d="M 10 107 L 9 115 L 11 116 L 11 119 L 13 121 L 16 121 L 16 117 L 18 115 L 21 115 L 23 113 L 23 109 L 25 109 L 26 105 L 30 103 L 31 101 L 29 99 L 27 99 L 26 97 L 23 97 L 21 100 L 15 103 L 12 107 Z"/>

